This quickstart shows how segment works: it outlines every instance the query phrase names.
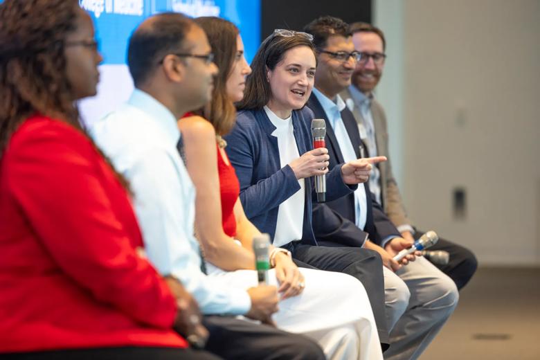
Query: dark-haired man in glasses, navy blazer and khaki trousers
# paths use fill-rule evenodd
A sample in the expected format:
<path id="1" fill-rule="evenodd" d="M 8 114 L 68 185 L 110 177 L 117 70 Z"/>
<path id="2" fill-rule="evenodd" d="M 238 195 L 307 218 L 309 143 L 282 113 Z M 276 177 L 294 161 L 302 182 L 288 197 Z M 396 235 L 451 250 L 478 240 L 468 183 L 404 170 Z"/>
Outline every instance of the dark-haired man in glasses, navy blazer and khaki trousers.
<path id="1" fill-rule="evenodd" d="M 341 19 L 321 17 L 309 23 L 304 30 L 314 36 L 318 53 L 315 89 L 307 105 L 316 117 L 323 117 L 330 124 L 327 125 L 327 147 L 329 168 L 332 168 L 337 165 L 338 159 L 356 159 L 358 153 L 355 146 L 360 150 L 363 148 L 356 121 L 339 96 L 339 92 L 350 85 L 352 72 L 361 60 L 361 54 L 354 50 L 349 26 Z M 412 242 L 399 236 L 399 231 L 375 203 L 367 183 L 365 187 L 359 186 L 358 191 L 363 194 L 355 193 L 354 202 L 345 199 L 328 205 L 345 217 L 345 221 L 352 220 L 352 217 L 359 228 L 365 227 L 370 238 L 378 238 L 377 244 L 366 240 L 364 246 L 379 252 L 385 264 L 384 288 L 390 348 L 384 357 L 393 360 L 416 359 L 456 307 L 456 285 L 422 257 L 415 259 L 413 255 L 407 260 L 414 262 L 404 260 L 402 264 L 397 264 L 393 256 L 411 246 Z M 386 231 L 389 235 L 381 235 L 383 227 L 389 228 Z"/>

